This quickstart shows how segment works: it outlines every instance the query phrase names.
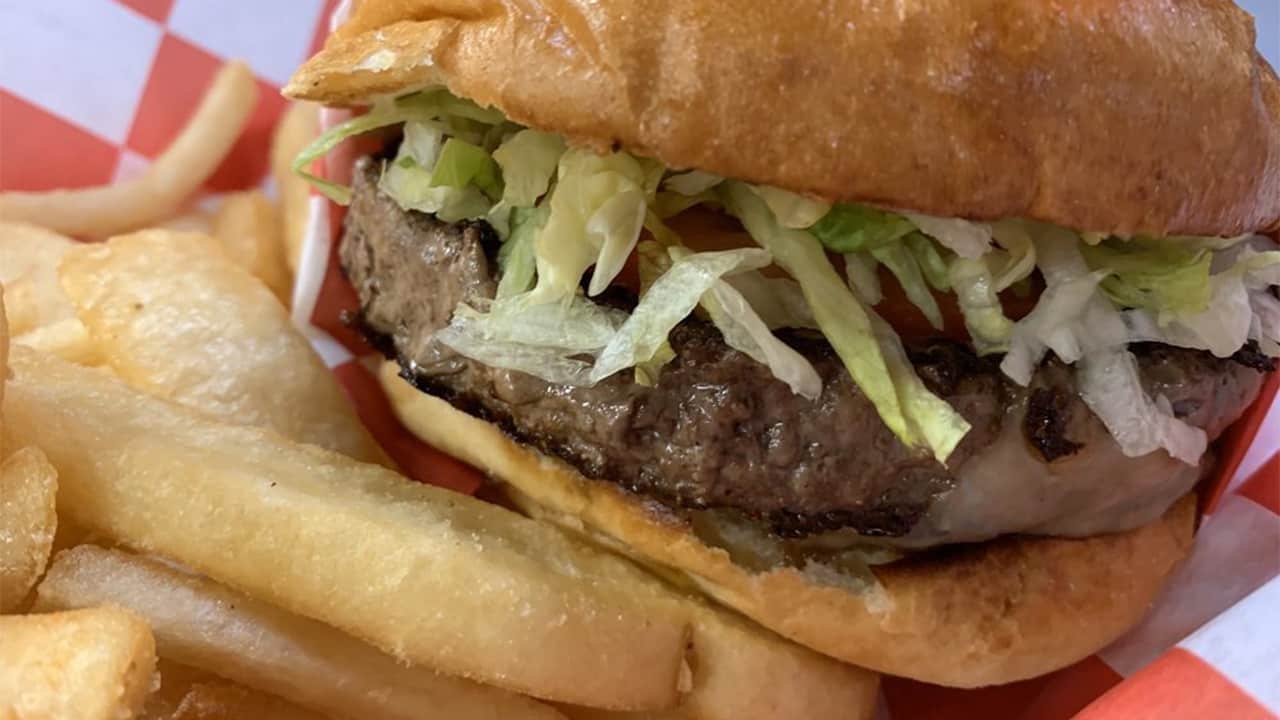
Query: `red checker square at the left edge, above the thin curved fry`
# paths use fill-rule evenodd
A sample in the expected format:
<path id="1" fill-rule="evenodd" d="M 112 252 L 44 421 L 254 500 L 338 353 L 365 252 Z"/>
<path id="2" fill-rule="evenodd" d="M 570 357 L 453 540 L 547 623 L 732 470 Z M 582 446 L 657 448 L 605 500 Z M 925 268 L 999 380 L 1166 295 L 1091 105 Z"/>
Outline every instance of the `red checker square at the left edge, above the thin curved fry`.
<path id="1" fill-rule="evenodd" d="M 0 190 L 52 190 L 110 182 L 120 149 L 0 91 Z"/>

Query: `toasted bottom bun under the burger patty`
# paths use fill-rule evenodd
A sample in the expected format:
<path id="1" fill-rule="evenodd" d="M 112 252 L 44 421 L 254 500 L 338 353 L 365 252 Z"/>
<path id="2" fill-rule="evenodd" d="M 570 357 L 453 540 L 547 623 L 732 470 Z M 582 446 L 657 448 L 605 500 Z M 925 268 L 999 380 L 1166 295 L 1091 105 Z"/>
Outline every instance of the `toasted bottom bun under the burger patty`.
<path id="1" fill-rule="evenodd" d="M 419 392 L 393 363 L 381 380 L 411 432 L 509 486 L 526 512 L 691 583 L 822 653 L 942 685 L 1010 683 L 1097 652 L 1138 623 L 1194 533 L 1194 497 L 1187 496 L 1125 533 L 945 547 L 874 566 L 873 582 L 812 562 L 753 571 L 662 506 Z"/>

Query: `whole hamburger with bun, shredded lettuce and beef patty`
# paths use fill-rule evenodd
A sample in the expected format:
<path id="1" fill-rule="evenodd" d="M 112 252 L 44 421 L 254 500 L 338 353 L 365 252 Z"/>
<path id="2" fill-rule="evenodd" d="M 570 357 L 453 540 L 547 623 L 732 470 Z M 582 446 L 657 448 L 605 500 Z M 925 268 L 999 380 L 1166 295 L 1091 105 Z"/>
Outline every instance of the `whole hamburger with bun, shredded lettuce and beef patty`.
<path id="1" fill-rule="evenodd" d="M 364 109 L 296 167 L 370 147 L 312 179 L 413 432 L 883 673 L 1134 625 L 1280 355 L 1229 3 L 365 0 L 285 92 Z"/>

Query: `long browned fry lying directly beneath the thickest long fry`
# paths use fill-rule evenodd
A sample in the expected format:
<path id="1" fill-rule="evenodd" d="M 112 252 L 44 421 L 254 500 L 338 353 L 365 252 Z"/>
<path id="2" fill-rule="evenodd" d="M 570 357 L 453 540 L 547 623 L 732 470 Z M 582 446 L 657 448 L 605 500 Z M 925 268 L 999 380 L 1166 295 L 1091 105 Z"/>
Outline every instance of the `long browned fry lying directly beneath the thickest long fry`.
<path id="1" fill-rule="evenodd" d="M 328 625 L 154 560 L 93 546 L 60 553 L 35 609 L 95 605 L 145 618 L 166 659 L 315 711 L 370 720 L 408 720 L 424 707 L 440 717 L 559 717 L 529 698 L 402 665 Z"/>

